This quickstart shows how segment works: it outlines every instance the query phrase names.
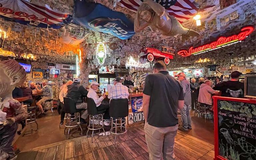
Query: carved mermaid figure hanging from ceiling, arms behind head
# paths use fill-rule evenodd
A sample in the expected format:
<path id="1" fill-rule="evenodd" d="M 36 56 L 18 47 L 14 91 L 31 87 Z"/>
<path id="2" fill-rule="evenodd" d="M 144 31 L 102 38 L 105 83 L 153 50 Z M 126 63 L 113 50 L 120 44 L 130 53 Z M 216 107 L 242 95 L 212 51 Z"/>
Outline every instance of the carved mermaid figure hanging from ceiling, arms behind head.
<path id="1" fill-rule="evenodd" d="M 143 20 L 140 23 L 140 19 Z M 175 36 L 200 36 L 200 33 L 184 28 L 174 16 L 170 16 L 163 6 L 152 1 L 145 0 L 141 3 L 134 21 L 134 31 L 139 32 L 149 26 L 152 31 L 159 30 L 163 35 Z"/>

